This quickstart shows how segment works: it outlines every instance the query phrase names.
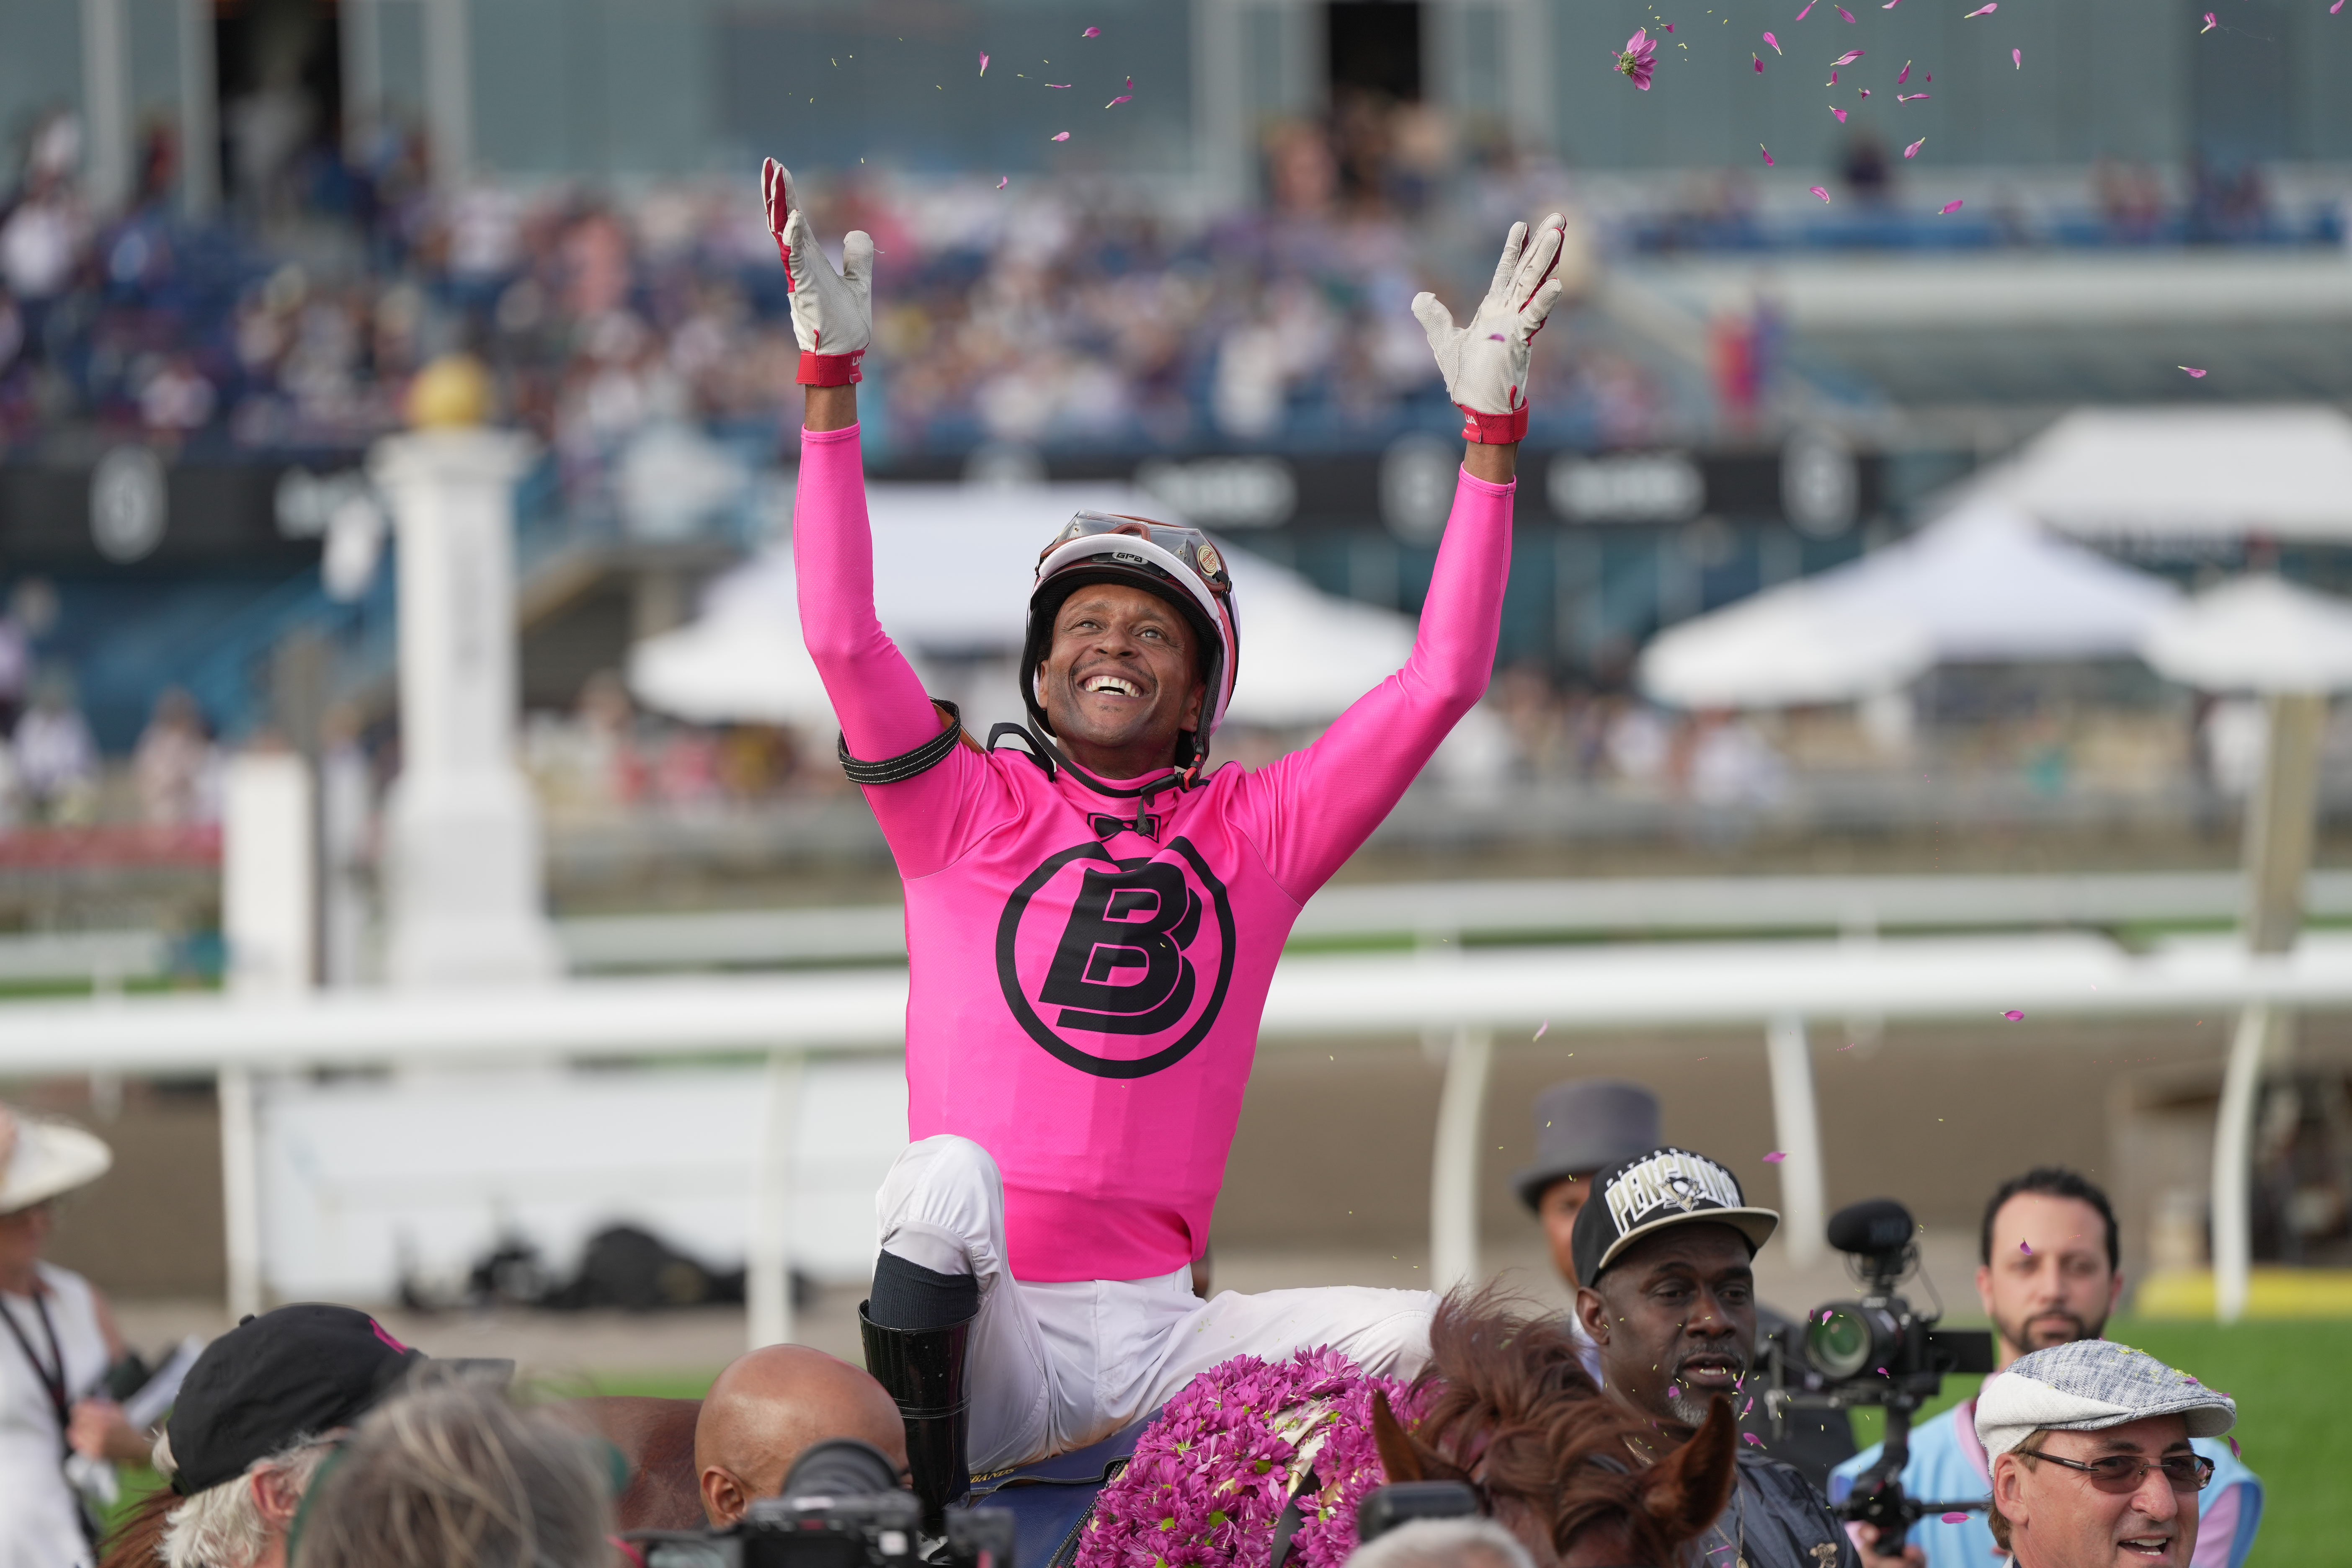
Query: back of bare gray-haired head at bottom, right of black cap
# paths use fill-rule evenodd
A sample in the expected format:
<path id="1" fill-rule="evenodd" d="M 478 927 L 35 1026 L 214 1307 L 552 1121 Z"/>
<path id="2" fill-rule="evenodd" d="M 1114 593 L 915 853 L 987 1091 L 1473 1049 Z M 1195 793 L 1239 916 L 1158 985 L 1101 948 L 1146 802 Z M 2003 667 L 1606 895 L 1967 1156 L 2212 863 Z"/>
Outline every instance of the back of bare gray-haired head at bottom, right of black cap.
<path id="1" fill-rule="evenodd" d="M 480 1380 L 423 1375 L 320 1476 L 294 1563 L 612 1568 L 612 1483 L 597 1441 L 557 1415 Z"/>

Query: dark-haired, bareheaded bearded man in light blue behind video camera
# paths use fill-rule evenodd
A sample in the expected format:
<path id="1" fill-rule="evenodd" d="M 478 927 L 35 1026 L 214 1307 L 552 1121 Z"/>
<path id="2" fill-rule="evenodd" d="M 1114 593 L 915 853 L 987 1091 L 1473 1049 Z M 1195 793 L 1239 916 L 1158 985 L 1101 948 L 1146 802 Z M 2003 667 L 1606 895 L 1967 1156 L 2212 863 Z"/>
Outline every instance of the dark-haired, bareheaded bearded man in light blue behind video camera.
<path id="1" fill-rule="evenodd" d="M 2105 1192 L 2063 1166 L 2034 1166 L 2002 1182 L 1985 1204 L 1978 1258 L 1976 1295 L 1992 1319 L 1992 1363 L 1999 1368 L 1985 1389 L 2027 1352 L 2103 1338 L 2107 1314 L 2124 1295 L 2114 1208 Z M 1907 1497 L 1943 1502 L 1992 1490 L 1992 1465 L 1973 1425 L 1983 1396 L 1980 1389 L 1976 1399 L 1912 1427 L 1910 1462 L 1903 1467 Z M 2201 1523 L 2190 1568 L 2239 1568 L 2263 1519 L 2263 1481 L 2220 1439 L 2201 1436 L 2190 1446 L 2213 1460 L 2213 1481 L 2197 1493 Z M 1853 1479 L 1877 1462 L 1879 1446 L 1872 1443 L 1839 1465 L 1830 1495 L 1844 1497 Z M 1853 1535 L 1863 1561 L 1886 1568 L 2002 1566 L 1992 1526 L 1978 1514 L 1966 1523 L 1922 1521 L 1900 1552 L 1877 1552 L 1870 1526 L 1853 1526 Z"/>

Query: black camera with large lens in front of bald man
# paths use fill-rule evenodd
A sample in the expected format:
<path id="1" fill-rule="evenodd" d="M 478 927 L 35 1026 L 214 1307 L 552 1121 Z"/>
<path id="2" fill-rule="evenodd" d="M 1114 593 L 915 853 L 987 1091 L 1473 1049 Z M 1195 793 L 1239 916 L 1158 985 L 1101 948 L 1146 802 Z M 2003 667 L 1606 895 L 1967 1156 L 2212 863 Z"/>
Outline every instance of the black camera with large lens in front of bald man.
<path id="1" fill-rule="evenodd" d="M 722 1530 L 630 1530 L 644 1568 L 1011 1568 L 1011 1509 L 948 1509 L 943 1540 L 917 1533 L 922 1502 L 873 1443 L 828 1439 L 793 1465 L 783 1490 Z"/>

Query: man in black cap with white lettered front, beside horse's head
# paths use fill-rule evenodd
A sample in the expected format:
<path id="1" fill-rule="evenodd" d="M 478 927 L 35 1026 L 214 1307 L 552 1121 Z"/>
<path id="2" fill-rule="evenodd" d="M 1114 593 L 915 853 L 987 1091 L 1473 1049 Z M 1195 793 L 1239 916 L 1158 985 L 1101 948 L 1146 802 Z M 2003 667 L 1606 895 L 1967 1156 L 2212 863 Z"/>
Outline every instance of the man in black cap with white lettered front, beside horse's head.
<path id="1" fill-rule="evenodd" d="M 1602 1387 L 1682 1439 L 1740 1399 L 1757 1352 L 1755 1253 L 1780 1225 L 1705 1154 L 1661 1147 L 1602 1168 L 1569 1237 L 1576 1321 Z M 1731 1507 L 1693 1561 L 1719 1568 L 1853 1566 L 1853 1544 L 1790 1465 L 1743 1450 Z"/>

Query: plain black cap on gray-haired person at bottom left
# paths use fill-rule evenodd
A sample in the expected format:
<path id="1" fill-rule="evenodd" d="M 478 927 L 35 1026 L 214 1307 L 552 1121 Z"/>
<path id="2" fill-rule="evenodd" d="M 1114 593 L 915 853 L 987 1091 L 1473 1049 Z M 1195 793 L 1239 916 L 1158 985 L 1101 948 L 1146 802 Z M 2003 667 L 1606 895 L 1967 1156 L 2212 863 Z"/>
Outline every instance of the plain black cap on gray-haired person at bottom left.
<path id="1" fill-rule="evenodd" d="M 358 1307 L 296 1302 L 247 1316 L 205 1347 L 165 1427 L 172 1490 L 245 1474 L 303 1434 L 348 1427 L 423 1361 Z"/>

